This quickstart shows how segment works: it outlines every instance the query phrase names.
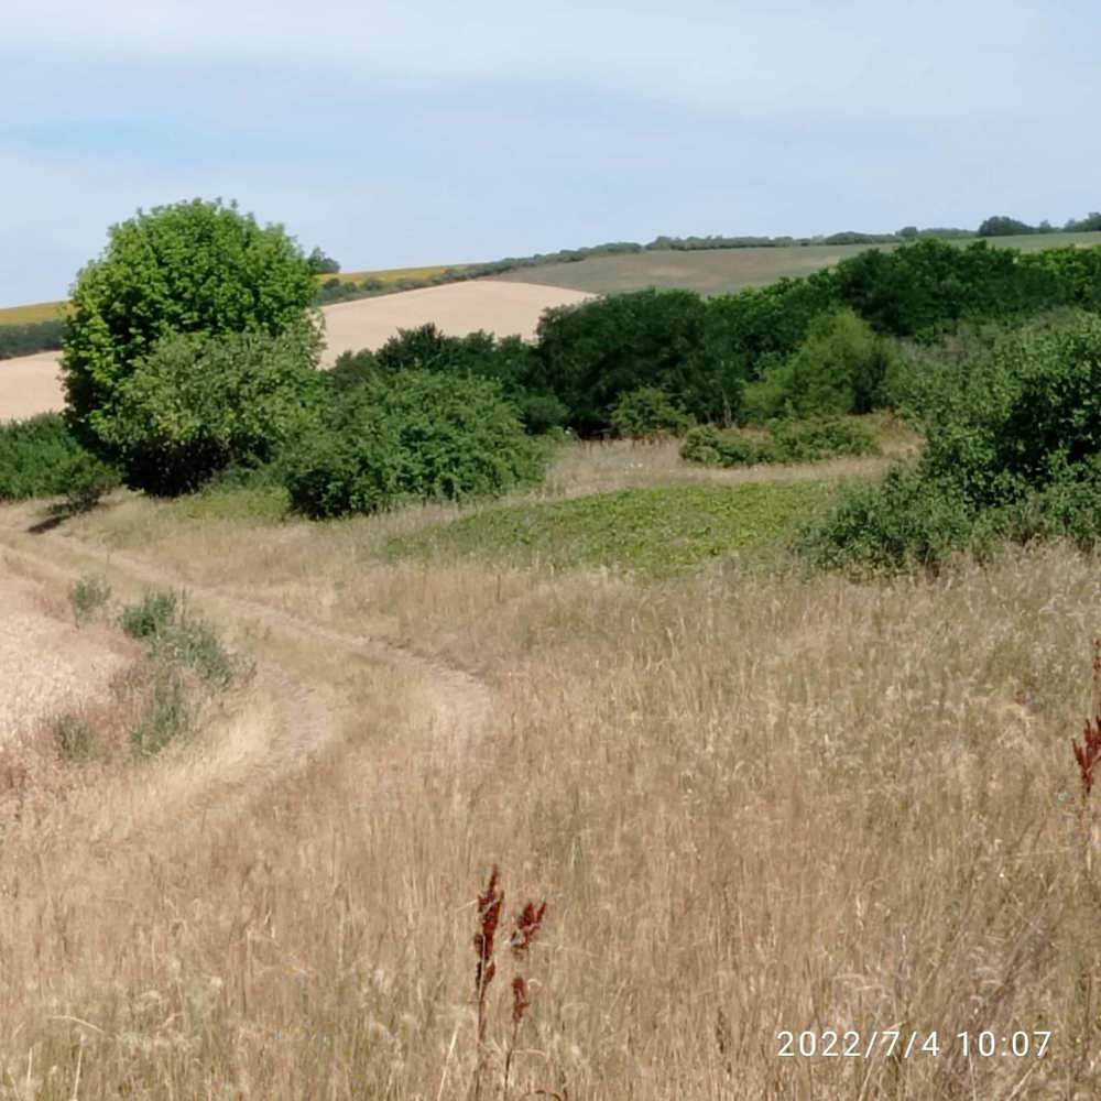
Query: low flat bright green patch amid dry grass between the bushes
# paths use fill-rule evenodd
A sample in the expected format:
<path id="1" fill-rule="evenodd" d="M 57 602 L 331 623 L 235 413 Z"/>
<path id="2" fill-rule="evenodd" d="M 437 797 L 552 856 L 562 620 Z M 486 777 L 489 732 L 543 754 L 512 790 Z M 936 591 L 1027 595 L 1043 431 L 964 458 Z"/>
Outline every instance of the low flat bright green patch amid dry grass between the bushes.
<path id="1" fill-rule="evenodd" d="M 833 495 L 835 482 L 629 489 L 490 508 L 388 544 L 393 557 L 489 557 L 558 569 L 679 574 L 781 544 Z"/>

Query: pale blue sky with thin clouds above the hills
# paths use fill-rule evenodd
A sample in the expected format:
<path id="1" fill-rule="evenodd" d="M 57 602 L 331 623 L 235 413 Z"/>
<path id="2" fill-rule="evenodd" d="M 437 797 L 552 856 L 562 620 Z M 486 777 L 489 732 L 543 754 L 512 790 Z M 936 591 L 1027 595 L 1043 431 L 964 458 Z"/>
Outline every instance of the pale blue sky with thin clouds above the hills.
<path id="1" fill-rule="evenodd" d="M 1095 0 L 0 0 L 0 305 L 139 208 L 346 270 L 1101 208 Z"/>

